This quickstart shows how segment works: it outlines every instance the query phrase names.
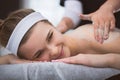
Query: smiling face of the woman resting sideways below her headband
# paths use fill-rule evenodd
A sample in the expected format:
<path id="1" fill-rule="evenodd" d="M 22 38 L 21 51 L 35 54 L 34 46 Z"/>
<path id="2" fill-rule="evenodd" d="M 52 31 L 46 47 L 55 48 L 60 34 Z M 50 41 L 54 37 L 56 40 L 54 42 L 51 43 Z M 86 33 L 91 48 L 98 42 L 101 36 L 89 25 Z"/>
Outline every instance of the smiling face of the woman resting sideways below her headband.
<path id="1" fill-rule="evenodd" d="M 51 61 L 70 56 L 65 42 L 65 37 L 52 25 L 38 22 L 19 51 L 28 60 Z"/>

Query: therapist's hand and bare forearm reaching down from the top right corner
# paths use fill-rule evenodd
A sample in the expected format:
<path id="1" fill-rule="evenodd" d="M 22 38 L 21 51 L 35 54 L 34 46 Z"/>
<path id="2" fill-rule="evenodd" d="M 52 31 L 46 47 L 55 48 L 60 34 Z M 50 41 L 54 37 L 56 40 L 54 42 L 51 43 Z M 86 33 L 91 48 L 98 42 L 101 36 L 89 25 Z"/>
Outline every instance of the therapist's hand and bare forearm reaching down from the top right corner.
<path id="1" fill-rule="evenodd" d="M 120 0 L 106 0 L 106 2 L 95 12 L 90 14 L 81 14 L 83 20 L 90 20 L 93 22 L 94 37 L 99 43 L 109 38 L 110 30 L 115 28 L 114 13 L 120 8 Z M 101 29 L 99 31 L 98 29 Z"/>

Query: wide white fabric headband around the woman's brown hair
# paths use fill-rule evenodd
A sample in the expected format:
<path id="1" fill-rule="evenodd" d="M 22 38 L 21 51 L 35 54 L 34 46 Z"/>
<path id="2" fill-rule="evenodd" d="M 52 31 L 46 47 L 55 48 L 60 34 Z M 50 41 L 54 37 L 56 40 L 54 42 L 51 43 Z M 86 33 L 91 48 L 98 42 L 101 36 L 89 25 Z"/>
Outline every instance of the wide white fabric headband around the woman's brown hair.
<path id="1" fill-rule="evenodd" d="M 39 12 L 33 12 L 23 18 L 13 30 L 6 48 L 17 55 L 18 47 L 25 33 L 38 21 L 46 20 Z"/>

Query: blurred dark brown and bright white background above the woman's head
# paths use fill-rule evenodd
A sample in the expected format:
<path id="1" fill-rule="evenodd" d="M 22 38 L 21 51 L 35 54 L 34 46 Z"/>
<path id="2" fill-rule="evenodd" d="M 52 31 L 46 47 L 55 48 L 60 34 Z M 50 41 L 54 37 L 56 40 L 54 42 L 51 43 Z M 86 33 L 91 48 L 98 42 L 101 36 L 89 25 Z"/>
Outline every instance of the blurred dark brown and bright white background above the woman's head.
<path id="1" fill-rule="evenodd" d="M 31 8 L 41 12 L 53 25 L 57 25 L 64 14 L 60 0 L 1 0 L 0 19 L 4 19 L 10 12 L 21 8 Z"/>

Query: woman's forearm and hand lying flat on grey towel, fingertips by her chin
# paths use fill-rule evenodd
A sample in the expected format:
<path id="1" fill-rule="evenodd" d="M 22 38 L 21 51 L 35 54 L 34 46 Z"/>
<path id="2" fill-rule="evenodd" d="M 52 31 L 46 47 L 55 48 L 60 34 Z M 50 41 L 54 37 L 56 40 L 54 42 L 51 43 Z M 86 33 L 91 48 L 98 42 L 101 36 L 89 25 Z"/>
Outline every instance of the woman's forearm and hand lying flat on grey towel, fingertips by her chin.
<path id="1" fill-rule="evenodd" d="M 120 54 L 78 54 L 73 57 L 53 60 L 92 67 L 113 67 L 120 69 Z"/>

